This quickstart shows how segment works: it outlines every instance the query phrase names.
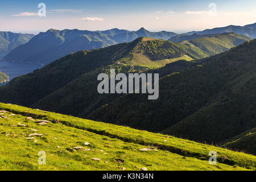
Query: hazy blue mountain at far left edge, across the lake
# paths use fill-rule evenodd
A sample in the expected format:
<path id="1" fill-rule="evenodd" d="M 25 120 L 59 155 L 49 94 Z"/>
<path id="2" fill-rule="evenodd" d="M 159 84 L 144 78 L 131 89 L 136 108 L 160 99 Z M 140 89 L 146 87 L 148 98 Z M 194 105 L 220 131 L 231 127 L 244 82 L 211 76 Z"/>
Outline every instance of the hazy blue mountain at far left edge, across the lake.
<path id="1" fill-rule="evenodd" d="M 27 43 L 34 36 L 33 34 L 16 34 L 0 31 L 0 57 L 13 51 L 16 47 Z"/>

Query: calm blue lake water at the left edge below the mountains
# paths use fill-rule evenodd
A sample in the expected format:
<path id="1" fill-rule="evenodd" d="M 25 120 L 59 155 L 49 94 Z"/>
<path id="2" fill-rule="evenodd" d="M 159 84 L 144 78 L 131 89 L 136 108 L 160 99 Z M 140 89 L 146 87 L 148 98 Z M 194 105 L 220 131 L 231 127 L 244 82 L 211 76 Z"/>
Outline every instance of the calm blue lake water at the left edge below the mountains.
<path id="1" fill-rule="evenodd" d="M 42 68 L 39 64 L 28 64 L 28 63 L 15 63 L 9 61 L 0 60 L 0 71 L 6 73 L 10 77 L 10 81 L 20 75 L 26 75 L 27 73 L 33 72 L 35 69 Z M 5 82 L 0 86 L 7 84 Z"/>

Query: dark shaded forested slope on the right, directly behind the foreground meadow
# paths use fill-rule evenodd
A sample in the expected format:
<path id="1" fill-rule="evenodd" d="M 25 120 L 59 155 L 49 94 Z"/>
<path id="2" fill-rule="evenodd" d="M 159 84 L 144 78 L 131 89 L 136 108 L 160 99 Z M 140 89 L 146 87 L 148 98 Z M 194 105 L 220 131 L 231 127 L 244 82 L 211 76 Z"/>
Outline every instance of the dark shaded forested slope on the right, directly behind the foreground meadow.
<path id="1" fill-rule="evenodd" d="M 235 137 L 255 127 L 255 48 L 253 40 L 192 68 L 171 70 L 160 78 L 158 100 L 127 94 L 88 117 L 201 142 Z"/>

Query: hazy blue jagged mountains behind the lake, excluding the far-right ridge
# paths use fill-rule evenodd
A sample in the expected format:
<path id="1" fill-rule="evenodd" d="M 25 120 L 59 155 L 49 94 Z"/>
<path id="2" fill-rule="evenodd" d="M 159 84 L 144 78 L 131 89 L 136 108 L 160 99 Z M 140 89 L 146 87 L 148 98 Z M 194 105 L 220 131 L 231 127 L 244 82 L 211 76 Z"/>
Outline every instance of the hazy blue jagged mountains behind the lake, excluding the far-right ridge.
<path id="1" fill-rule="evenodd" d="M 138 31 L 54 30 L 40 32 L 30 42 L 17 47 L 5 56 L 6 60 L 49 64 L 72 52 L 108 47 L 114 44 L 131 42 L 140 36 L 156 39 L 169 39 L 177 35 L 173 32 L 150 32 L 141 28 Z"/>

